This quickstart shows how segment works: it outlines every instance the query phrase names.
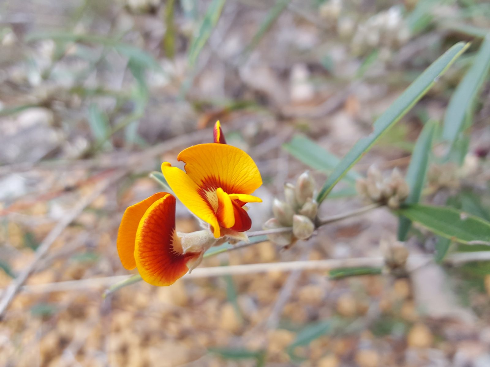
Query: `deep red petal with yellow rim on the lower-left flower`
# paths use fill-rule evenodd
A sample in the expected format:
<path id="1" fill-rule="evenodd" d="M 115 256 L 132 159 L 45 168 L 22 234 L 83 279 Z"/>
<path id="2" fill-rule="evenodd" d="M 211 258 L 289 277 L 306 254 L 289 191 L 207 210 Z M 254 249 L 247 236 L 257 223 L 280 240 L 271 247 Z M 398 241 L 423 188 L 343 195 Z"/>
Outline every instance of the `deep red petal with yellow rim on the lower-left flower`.
<path id="1" fill-rule="evenodd" d="M 134 257 L 141 277 L 152 285 L 171 285 L 187 273 L 187 261 L 199 254 L 182 253 L 175 233 L 175 198 L 167 194 L 154 202 L 136 232 Z"/>

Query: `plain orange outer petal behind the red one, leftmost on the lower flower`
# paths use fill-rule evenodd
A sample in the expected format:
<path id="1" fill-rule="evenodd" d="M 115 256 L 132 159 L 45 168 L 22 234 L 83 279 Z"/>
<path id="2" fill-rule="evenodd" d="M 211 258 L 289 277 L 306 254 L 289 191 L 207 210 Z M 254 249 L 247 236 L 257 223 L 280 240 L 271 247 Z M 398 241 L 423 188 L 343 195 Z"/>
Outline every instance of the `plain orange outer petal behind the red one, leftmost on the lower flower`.
<path id="1" fill-rule="evenodd" d="M 118 253 L 123 267 L 127 270 L 136 268 L 136 262 L 134 260 L 134 243 L 136 241 L 136 231 L 140 224 L 141 218 L 145 214 L 145 211 L 160 198 L 168 195 L 167 192 L 157 192 L 149 198 L 135 204 L 128 206 L 121 219 L 121 225 L 118 231 Z"/>

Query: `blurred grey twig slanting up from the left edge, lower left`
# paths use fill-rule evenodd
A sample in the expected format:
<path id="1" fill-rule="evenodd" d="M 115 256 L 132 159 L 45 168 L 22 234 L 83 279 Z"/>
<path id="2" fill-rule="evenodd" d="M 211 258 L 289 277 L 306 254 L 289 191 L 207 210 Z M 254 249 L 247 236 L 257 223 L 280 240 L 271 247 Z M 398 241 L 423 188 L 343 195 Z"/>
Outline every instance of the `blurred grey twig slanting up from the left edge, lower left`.
<path id="1" fill-rule="evenodd" d="M 38 265 L 39 260 L 43 258 L 43 256 L 49 251 L 49 248 L 54 243 L 56 238 L 67 228 L 73 220 L 85 209 L 89 206 L 97 197 L 110 185 L 114 184 L 117 180 L 119 180 L 125 174 L 124 171 L 117 171 L 110 179 L 100 184 L 92 193 L 83 198 L 77 206 L 71 210 L 71 212 L 65 216 L 62 220 L 58 222 L 58 224 L 51 229 L 46 238 L 41 242 L 39 247 L 36 250 L 36 254 L 34 255 L 34 260 L 18 275 L 7 288 L 7 290 L 2 294 L 3 297 L 0 300 L 0 319 L 3 316 L 6 308 L 12 302 L 17 292 L 19 292 L 22 285 L 25 283 L 29 275 L 35 270 Z"/>

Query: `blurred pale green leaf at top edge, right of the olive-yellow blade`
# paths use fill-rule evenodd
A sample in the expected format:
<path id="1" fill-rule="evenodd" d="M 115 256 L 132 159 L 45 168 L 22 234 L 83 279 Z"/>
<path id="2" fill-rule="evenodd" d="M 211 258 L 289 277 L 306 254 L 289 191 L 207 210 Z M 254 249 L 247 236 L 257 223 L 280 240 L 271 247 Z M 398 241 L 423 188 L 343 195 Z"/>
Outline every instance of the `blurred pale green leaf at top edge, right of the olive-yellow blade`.
<path id="1" fill-rule="evenodd" d="M 199 53 L 204 45 L 206 45 L 206 42 L 211 36 L 211 32 L 218 23 L 225 2 L 226 0 L 213 0 L 209 5 L 201 24 L 197 28 L 194 38 L 191 41 L 191 46 L 189 46 L 188 60 L 191 68 L 196 64 Z"/>

